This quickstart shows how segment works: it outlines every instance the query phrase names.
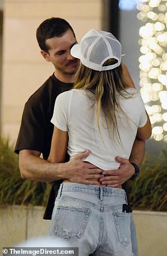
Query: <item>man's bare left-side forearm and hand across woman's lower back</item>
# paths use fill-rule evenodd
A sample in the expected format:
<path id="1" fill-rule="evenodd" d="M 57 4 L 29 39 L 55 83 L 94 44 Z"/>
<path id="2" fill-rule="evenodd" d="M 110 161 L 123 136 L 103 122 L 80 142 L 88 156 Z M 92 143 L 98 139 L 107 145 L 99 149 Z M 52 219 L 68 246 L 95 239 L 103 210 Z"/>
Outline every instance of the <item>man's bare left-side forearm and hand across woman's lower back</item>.
<path id="1" fill-rule="evenodd" d="M 102 170 L 91 163 L 82 161 L 90 151 L 79 153 L 67 163 L 50 163 L 40 158 L 40 152 L 34 150 L 20 150 L 19 167 L 21 177 L 41 182 L 52 182 L 61 179 L 70 179 L 76 183 L 96 185 L 102 177 Z"/>

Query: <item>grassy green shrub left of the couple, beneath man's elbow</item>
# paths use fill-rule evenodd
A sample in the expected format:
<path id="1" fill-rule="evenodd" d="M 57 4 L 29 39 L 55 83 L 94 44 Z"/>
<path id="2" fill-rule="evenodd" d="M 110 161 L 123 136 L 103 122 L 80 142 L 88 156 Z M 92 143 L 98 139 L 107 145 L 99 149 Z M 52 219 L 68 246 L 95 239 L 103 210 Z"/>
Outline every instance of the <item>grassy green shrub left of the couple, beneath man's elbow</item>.
<path id="1" fill-rule="evenodd" d="M 8 140 L 0 138 L 0 205 L 45 205 L 50 185 L 20 176 L 18 156 Z"/>

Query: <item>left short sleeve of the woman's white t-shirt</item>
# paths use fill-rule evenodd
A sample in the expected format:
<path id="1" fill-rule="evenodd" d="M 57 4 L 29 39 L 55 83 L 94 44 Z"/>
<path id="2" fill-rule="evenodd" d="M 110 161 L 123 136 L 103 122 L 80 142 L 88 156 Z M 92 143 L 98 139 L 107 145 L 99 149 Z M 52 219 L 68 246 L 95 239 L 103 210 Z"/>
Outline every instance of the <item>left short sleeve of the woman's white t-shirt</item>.
<path id="1" fill-rule="evenodd" d="M 68 132 L 68 110 L 68 92 L 64 92 L 59 94 L 56 98 L 53 116 L 51 119 L 51 123 L 64 132 Z"/>

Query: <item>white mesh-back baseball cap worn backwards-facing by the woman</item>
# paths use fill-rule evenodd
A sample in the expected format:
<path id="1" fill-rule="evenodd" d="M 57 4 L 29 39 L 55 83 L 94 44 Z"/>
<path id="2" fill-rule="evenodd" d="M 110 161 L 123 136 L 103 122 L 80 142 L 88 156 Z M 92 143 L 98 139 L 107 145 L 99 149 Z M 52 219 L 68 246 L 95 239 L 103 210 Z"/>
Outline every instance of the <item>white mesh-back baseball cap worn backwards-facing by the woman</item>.
<path id="1" fill-rule="evenodd" d="M 115 69 L 121 64 L 121 43 L 110 32 L 92 29 L 81 39 L 80 44 L 71 48 L 71 55 L 80 59 L 81 63 L 90 69 L 103 71 Z M 103 66 L 108 59 L 118 62 L 110 66 Z"/>

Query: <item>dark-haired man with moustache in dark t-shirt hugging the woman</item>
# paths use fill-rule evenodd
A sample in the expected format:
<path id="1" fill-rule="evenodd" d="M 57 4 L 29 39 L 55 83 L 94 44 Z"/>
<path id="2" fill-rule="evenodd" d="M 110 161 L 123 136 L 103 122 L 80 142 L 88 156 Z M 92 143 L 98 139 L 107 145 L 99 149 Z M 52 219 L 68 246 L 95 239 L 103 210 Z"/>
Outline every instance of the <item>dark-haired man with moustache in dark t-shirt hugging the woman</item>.
<path id="1" fill-rule="evenodd" d="M 75 183 L 96 185 L 94 179 L 102 184 L 117 187 L 133 177 L 134 165 L 129 160 L 117 157 L 121 163 L 120 169 L 105 171 L 90 163 L 82 162 L 89 151 L 76 155 L 65 163 L 50 163 L 49 156 L 53 125 L 50 120 L 59 93 L 73 87 L 75 73 L 79 67 L 79 60 L 70 55 L 71 47 L 77 43 L 75 34 L 67 21 L 51 18 L 43 21 L 37 29 L 37 40 L 41 54 L 46 61 L 52 62 L 55 72 L 27 101 L 23 111 L 21 128 L 17 139 L 15 152 L 19 153 L 19 167 L 22 178 L 36 181 L 53 182 L 52 192 L 57 193 L 62 179 L 69 179 Z M 130 87 L 134 87 L 126 66 L 124 76 Z M 43 158 L 40 158 L 40 155 Z M 136 141 L 130 161 L 139 165 L 144 156 L 144 142 Z M 136 167 L 136 166 L 135 166 Z M 135 173 L 136 174 L 136 173 Z M 104 176 L 105 175 L 105 176 Z M 45 218 L 50 219 L 55 195 L 49 198 Z M 49 214 L 49 215 L 48 215 Z"/>

